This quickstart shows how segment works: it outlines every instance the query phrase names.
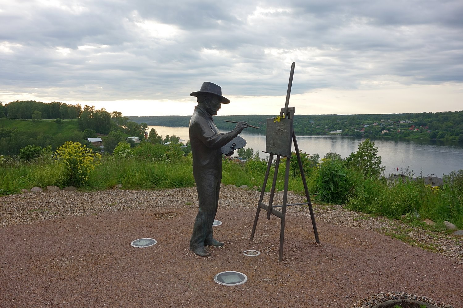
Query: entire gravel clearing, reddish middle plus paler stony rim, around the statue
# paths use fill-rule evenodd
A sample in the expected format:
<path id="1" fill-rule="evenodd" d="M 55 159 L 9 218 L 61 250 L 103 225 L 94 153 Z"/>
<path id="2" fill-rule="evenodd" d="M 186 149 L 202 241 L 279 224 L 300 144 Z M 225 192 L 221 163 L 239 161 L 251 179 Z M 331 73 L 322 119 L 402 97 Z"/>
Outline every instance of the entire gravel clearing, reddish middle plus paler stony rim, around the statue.
<path id="1" fill-rule="evenodd" d="M 194 187 L 1 197 L 0 238 L 15 244 L 0 249 L 0 306 L 352 307 L 373 294 L 406 291 L 463 307 L 461 239 L 342 206 L 314 205 L 317 244 L 307 207 L 293 206 L 287 210 L 283 262 L 278 262 L 279 219 L 268 221 L 261 211 L 255 241 L 249 241 L 259 195 L 221 189 L 217 219 L 224 224 L 214 227 L 214 234 L 226 245 L 211 248 L 208 258 L 188 251 L 198 203 Z M 281 198 L 277 194 L 275 203 Z M 304 197 L 288 195 L 288 203 L 300 202 Z M 108 253 L 153 228 L 164 241 Z M 421 248 L 385 236 L 397 230 Z M 121 242 L 101 243 L 98 236 Z M 19 246 L 23 242 L 27 249 Z M 261 255 L 244 257 L 247 249 Z M 163 272 L 153 278 L 141 272 L 144 266 Z M 246 271 L 249 281 L 236 287 L 211 282 L 222 270 Z M 185 282 L 185 275 L 194 279 Z"/>

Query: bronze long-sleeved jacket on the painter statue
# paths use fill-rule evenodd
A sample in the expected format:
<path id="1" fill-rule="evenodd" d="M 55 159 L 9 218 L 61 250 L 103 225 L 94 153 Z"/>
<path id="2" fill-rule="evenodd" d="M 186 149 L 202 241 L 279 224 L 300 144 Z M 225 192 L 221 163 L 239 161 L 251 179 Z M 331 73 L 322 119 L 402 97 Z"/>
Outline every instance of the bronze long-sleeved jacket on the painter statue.
<path id="1" fill-rule="evenodd" d="M 212 116 L 200 106 L 194 108 L 190 120 L 190 143 L 193 154 L 193 175 L 196 182 L 204 176 L 222 178 L 221 147 L 236 136 L 234 131 L 219 133 Z"/>

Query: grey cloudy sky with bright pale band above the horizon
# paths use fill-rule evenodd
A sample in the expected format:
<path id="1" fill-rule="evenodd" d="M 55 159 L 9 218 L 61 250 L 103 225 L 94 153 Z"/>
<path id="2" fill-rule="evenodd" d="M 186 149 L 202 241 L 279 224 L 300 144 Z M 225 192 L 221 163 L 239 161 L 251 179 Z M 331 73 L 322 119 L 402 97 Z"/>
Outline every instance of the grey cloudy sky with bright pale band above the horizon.
<path id="1" fill-rule="evenodd" d="M 0 0 L 0 101 L 191 115 L 463 109 L 462 0 Z"/>

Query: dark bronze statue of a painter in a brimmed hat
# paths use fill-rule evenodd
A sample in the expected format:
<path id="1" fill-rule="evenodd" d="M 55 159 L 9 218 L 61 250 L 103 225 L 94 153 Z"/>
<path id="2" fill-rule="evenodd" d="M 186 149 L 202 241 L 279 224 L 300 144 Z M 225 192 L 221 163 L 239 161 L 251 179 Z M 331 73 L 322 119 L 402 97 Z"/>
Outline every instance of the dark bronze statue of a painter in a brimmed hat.
<path id="1" fill-rule="evenodd" d="M 213 238 L 212 225 L 219 204 L 220 180 L 222 179 L 221 147 L 226 145 L 244 128 L 246 122 L 238 122 L 228 133 L 219 133 L 213 115 L 230 100 L 222 96 L 222 88 L 211 82 L 204 82 L 200 91 L 193 92 L 198 105 L 190 120 L 190 143 L 193 154 L 193 176 L 198 191 L 199 211 L 194 221 L 190 250 L 202 257 L 210 255 L 204 246 L 224 246 Z M 232 155 L 230 152 L 228 155 Z"/>

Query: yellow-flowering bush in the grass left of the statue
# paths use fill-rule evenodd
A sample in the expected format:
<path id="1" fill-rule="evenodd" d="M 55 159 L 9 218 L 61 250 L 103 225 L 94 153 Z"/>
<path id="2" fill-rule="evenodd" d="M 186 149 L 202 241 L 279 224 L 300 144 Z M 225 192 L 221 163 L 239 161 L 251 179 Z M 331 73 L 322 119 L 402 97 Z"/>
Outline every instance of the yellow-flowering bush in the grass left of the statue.
<path id="1" fill-rule="evenodd" d="M 68 172 L 69 184 L 80 187 L 88 180 L 95 166 L 100 164 L 101 154 L 94 153 L 80 142 L 66 141 L 56 150 L 56 157 Z"/>

